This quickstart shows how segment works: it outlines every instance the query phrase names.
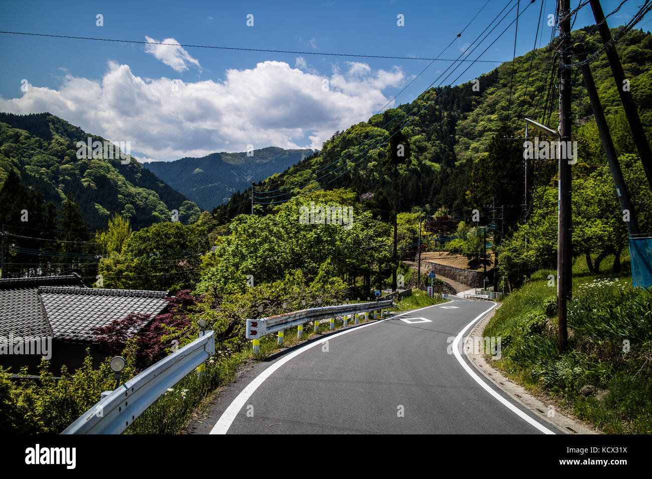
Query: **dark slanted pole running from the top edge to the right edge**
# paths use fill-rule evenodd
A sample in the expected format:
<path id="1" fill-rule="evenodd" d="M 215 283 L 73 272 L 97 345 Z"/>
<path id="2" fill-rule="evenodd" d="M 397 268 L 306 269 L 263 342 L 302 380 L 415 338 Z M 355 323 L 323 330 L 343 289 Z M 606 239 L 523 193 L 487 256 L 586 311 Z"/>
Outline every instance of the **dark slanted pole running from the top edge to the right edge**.
<path id="1" fill-rule="evenodd" d="M 621 102 L 623 102 L 625 115 L 627 115 L 627 121 L 629 122 L 629 127 L 632 130 L 634 143 L 636 143 L 636 149 L 638 150 L 638 155 L 640 156 L 641 163 L 643 164 L 645 177 L 647 177 L 647 182 L 649 183 L 650 188 L 652 188 L 652 151 L 650 150 L 649 143 L 647 143 L 647 138 L 645 138 L 645 131 L 643 130 L 641 119 L 638 117 L 638 109 L 634 103 L 634 98 L 632 98 L 632 93 L 629 91 L 629 87 L 625 88 L 625 85 L 629 85 L 629 80 L 625 78 L 623 65 L 620 63 L 618 53 L 615 51 L 615 46 L 611 44 L 611 32 L 609 31 L 609 26 L 607 25 L 606 19 L 604 18 L 604 13 L 602 12 L 600 1 L 590 1 L 591 10 L 593 10 L 593 17 L 595 17 L 595 23 L 597 23 L 598 29 L 600 31 L 600 36 L 602 37 L 602 43 L 607 46 L 605 51 L 607 54 L 607 60 L 609 61 L 609 65 L 612 69 L 612 74 L 614 75 L 615 89 L 617 89 L 618 93 L 620 94 Z"/>

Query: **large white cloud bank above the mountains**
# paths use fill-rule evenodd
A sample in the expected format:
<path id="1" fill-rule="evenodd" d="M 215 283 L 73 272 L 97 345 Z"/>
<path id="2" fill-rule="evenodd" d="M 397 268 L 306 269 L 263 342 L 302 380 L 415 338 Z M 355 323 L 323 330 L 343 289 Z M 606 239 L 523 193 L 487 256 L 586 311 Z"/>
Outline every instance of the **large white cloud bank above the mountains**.
<path id="1" fill-rule="evenodd" d="M 137 158 L 175 160 L 245 151 L 248 144 L 319 149 L 335 130 L 376 113 L 389 100 L 383 89 L 404 81 L 397 66 L 373 71 L 350 62 L 346 71 L 325 77 L 265 61 L 227 70 L 224 81 L 184 83 L 143 79 L 128 65 L 111 61 L 100 80 L 67 74 L 58 90 L 30 85 L 19 98 L 0 97 L 0 111 L 50 111 L 86 132 L 130 141 Z"/>

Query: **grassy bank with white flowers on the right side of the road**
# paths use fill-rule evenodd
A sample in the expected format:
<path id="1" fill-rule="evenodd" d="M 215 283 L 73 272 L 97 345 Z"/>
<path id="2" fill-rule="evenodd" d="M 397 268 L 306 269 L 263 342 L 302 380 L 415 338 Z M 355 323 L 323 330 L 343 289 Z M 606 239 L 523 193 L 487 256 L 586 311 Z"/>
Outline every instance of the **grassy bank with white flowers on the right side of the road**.
<path id="1" fill-rule="evenodd" d="M 552 270 L 533 274 L 505 298 L 484 336 L 501 338 L 501 358 L 492 364 L 529 392 L 547 394 L 603 433 L 646 434 L 652 430 L 652 291 L 631 287 L 627 260 L 621 274 L 597 275 L 584 258 L 576 261 L 563 355 Z M 605 259 L 602 271 L 613 261 Z M 597 390 L 584 396 L 585 385 Z"/>

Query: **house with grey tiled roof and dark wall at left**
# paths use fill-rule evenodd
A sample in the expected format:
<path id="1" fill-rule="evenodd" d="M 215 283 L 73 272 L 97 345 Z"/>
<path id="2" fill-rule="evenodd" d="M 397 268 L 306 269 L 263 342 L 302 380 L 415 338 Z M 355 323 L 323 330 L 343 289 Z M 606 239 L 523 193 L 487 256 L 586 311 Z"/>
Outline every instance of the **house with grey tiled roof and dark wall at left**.
<path id="1" fill-rule="evenodd" d="M 82 366 L 89 347 L 98 364 L 106 353 L 91 328 L 130 313 L 154 318 L 167 297 L 167 291 L 89 288 L 78 274 L 1 279 L 0 366 L 12 373 L 27 366 L 34 374 L 45 357 L 57 375 L 64 364 L 68 371 Z"/>

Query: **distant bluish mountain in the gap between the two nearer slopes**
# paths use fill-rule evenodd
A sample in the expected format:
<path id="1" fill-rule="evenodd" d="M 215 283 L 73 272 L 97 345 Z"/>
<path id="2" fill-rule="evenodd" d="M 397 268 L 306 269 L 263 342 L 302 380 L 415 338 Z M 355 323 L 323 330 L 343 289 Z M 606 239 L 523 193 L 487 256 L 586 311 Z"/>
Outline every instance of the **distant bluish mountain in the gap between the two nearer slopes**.
<path id="1" fill-rule="evenodd" d="M 252 181 L 280 173 L 313 152 L 267 147 L 254 150 L 253 156 L 221 152 L 143 166 L 201 208 L 211 210 L 228 201 L 234 192 L 246 190 Z"/>

